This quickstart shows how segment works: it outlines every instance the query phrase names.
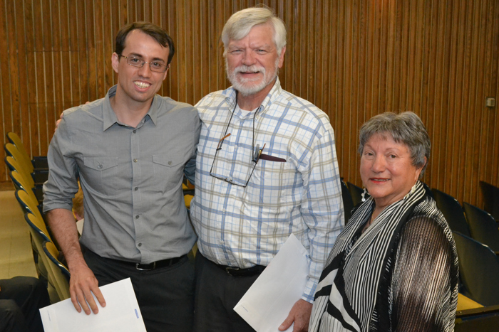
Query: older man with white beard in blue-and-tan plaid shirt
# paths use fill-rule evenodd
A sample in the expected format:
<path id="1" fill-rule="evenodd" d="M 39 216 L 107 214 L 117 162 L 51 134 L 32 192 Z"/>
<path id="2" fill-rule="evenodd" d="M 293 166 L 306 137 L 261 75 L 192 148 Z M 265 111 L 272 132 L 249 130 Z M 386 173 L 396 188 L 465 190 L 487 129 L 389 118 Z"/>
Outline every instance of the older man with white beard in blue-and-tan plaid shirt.
<path id="1" fill-rule="evenodd" d="M 195 331 L 253 331 L 233 310 L 293 233 L 309 253 L 302 299 L 279 326 L 307 331 L 317 281 L 343 221 L 329 118 L 282 90 L 286 28 L 264 8 L 222 32 L 232 87 L 197 103 L 202 120 L 191 218 L 197 235 Z"/>

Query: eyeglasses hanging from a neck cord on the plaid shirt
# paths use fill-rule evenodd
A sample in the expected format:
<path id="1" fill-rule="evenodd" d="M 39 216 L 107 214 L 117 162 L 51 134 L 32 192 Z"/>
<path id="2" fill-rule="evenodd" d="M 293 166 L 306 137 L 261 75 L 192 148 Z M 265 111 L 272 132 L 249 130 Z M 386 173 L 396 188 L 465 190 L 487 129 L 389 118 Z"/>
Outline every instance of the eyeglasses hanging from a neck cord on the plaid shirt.
<path id="1" fill-rule="evenodd" d="M 253 131 L 252 131 L 253 136 L 252 136 L 252 149 L 251 149 L 252 155 L 248 159 L 249 167 L 248 167 L 248 171 L 246 172 L 247 178 L 246 177 L 245 178 L 234 178 L 233 176 L 230 175 L 230 174 L 234 173 L 232 166 L 237 166 L 237 163 L 235 165 L 233 162 L 230 164 L 227 164 L 227 166 L 229 166 L 228 168 L 219 165 L 219 164 L 224 164 L 224 161 L 220 160 L 219 151 L 222 150 L 222 148 L 224 146 L 223 143 L 224 143 L 225 139 L 227 139 L 231 135 L 231 133 L 227 134 L 227 132 L 229 130 L 230 122 L 232 121 L 232 117 L 234 116 L 236 107 L 237 107 L 237 95 L 236 95 L 236 105 L 234 106 L 234 109 L 232 109 L 232 114 L 230 114 L 230 119 L 229 119 L 229 122 L 227 123 L 227 127 L 225 128 L 225 132 L 224 132 L 222 138 L 220 139 L 220 141 L 218 141 L 217 150 L 215 151 L 215 157 L 213 158 L 212 167 L 210 168 L 210 176 L 213 176 L 214 178 L 217 178 L 217 179 L 222 180 L 222 181 L 226 181 L 226 182 L 231 183 L 235 186 L 240 186 L 242 188 L 246 188 L 246 186 L 249 183 L 249 179 L 253 175 L 254 168 L 257 167 L 260 156 L 262 155 L 262 151 L 265 149 L 265 144 L 262 146 L 262 149 L 260 149 L 259 144 L 257 144 L 256 148 L 254 146 L 254 117 L 257 115 L 257 112 L 259 111 L 259 107 L 258 107 L 258 109 L 253 114 L 253 127 L 252 127 L 253 128 Z M 225 144 L 225 146 L 227 146 L 227 144 Z M 218 159 L 217 159 L 217 157 L 218 157 Z M 220 169 L 218 169 L 218 168 L 220 168 Z M 229 172 L 230 174 L 227 176 L 222 175 L 224 170 Z M 249 171 L 249 170 L 251 170 L 251 171 Z"/>

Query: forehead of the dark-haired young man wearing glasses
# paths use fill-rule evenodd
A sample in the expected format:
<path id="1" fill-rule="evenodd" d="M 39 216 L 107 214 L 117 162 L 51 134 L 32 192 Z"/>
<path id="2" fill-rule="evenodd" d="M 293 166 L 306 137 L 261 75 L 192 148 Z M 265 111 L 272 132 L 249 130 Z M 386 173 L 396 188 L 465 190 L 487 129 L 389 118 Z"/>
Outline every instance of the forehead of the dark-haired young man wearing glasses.
<path id="1" fill-rule="evenodd" d="M 154 58 L 168 60 L 170 50 L 168 47 L 163 47 L 153 37 L 140 30 L 133 30 L 128 33 L 125 38 L 125 48 L 123 48 L 123 55 L 140 55 L 143 58 Z"/>

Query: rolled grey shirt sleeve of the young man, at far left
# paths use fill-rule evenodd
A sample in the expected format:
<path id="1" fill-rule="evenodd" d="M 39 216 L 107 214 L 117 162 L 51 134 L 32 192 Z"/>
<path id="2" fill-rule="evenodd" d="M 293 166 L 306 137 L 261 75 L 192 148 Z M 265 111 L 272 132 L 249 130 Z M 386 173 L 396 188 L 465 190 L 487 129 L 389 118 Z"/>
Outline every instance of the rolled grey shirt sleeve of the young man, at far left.
<path id="1" fill-rule="evenodd" d="M 56 208 L 71 210 L 78 191 L 78 166 L 71 157 L 71 134 L 66 121 L 61 120 L 48 146 L 48 180 L 43 183 L 43 213 Z"/>

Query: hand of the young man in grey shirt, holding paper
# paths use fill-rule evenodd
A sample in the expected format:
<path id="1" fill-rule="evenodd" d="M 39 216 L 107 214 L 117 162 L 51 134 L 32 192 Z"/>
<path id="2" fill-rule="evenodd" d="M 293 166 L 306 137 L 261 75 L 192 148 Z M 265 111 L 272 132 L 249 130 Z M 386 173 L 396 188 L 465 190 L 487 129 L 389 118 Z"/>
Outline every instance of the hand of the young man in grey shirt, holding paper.
<path id="1" fill-rule="evenodd" d="M 78 312 L 81 312 L 81 309 L 87 315 L 90 315 L 91 310 L 93 314 L 99 312 L 92 293 L 96 296 L 101 306 L 106 306 L 106 300 L 104 300 L 101 289 L 98 287 L 96 276 L 93 275 L 93 272 L 85 263 L 80 263 L 71 269 L 69 293 L 71 294 L 71 302 L 73 302 L 73 306 Z M 88 308 L 88 305 L 90 305 L 90 308 Z"/>

